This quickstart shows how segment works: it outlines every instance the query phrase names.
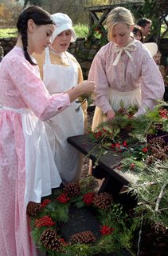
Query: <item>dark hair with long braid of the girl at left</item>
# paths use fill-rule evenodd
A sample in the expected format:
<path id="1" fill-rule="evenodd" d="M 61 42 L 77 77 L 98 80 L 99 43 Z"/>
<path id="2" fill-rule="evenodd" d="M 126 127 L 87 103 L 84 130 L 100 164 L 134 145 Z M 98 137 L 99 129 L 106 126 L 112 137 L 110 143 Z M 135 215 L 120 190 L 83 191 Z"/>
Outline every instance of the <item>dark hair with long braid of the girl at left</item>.
<path id="1" fill-rule="evenodd" d="M 18 33 L 21 34 L 25 58 L 32 65 L 36 65 L 33 63 L 27 51 L 27 22 L 29 19 L 32 19 L 33 22 L 39 26 L 54 24 L 54 22 L 50 14 L 39 6 L 29 6 L 25 8 L 18 17 L 17 28 Z"/>

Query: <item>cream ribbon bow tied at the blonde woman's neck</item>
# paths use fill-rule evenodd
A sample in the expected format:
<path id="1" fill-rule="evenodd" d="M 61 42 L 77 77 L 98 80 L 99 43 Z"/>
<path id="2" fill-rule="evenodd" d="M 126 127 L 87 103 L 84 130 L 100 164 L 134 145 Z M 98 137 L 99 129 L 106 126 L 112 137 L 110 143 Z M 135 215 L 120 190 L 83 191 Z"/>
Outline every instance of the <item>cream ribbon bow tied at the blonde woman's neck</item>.
<path id="1" fill-rule="evenodd" d="M 112 51 L 118 53 L 117 57 L 115 58 L 115 62 L 113 62 L 113 66 L 117 66 L 118 62 L 119 62 L 119 58 L 121 57 L 121 54 L 123 53 L 123 51 L 127 54 L 127 56 L 129 58 L 131 58 L 131 61 L 133 60 L 132 59 L 132 56 L 131 54 L 129 53 L 130 51 L 135 51 L 137 49 L 137 46 L 135 46 L 135 41 L 131 41 L 130 43 L 127 44 L 127 46 L 124 46 L 124 47 L 119 47 L 117 46 L 116 44 L 114 46 L 112 46 Z"/>

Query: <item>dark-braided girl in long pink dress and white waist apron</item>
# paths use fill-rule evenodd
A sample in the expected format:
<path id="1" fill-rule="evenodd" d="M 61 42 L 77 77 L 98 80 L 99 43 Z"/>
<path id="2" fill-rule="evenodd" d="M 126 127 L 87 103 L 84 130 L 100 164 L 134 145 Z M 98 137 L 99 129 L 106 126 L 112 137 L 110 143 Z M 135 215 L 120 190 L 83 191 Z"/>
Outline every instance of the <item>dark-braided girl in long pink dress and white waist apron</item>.
<path id="1" fill-rule="evenodd" d="M 17 44 L 0 64 L 0 254 L 33 256 L 26 206 L 41 202 L 61 184 L 43 121 L 95 85 L 84 81 L 50 96 L 31 54 L 41 54 L 49 45 L 53 20 L 40 7 L 29 6 L 17 26 Z"/>

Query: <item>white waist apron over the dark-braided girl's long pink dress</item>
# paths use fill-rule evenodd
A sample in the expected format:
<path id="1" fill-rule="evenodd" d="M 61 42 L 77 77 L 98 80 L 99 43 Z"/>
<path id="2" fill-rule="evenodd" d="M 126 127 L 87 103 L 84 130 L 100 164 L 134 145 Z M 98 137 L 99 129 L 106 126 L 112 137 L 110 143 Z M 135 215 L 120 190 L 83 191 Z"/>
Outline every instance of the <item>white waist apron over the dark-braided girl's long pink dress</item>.
<path id="1" fill-rule="evenodd" d="M 29 109 L 2 107 L 21 114 L 25 138 L 25 205 L 29 201 L 41 202 L 41 197 L 51 194 L 59 187 L 61 177 L 53 160 L 45 125 Z"/>

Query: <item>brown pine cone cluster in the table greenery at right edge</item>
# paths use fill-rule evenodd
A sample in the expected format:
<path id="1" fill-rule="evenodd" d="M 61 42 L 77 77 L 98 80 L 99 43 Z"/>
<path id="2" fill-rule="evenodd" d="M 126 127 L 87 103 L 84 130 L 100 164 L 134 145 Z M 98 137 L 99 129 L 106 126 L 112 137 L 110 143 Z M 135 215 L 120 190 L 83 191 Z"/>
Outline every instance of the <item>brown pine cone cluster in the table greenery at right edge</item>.
<path id="1" fill-rule="evenodd" d="M 163 138 L 152 138 L 147 145 L 151 154 L 147 157 L 147 164 L 150 165 L 155 159 L 164 161 L 168 158 L 168 146 Z"/>

